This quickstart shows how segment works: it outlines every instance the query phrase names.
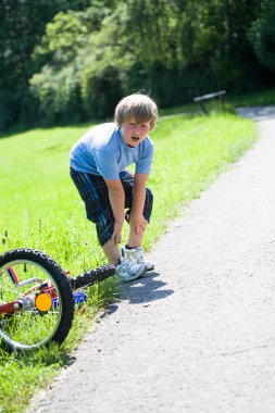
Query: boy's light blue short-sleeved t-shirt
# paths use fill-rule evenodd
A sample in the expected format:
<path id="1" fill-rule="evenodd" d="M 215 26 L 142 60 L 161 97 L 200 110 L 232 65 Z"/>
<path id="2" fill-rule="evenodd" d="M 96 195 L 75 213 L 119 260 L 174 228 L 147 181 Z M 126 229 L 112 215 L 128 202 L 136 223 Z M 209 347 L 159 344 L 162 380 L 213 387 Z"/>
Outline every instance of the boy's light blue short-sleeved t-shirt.
<path id="1" fill-rule="evenodd" d="M 115 123 L 89 129 L 72 148 L 70 164 L 75 171 L 118 179 L 120 172 L 136 164 L 136 172 L 148 174 L 153 159 L 153 142 L 147 136 L 136 148 L 128 147 Z"/>

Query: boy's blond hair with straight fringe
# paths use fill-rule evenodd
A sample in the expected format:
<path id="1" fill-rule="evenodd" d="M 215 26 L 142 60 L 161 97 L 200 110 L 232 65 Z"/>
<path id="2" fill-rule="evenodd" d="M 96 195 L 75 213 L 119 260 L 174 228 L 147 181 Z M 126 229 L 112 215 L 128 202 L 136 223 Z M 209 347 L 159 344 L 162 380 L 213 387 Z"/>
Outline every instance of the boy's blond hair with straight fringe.
<path id="1" fill-rule="evenodd" d="M 147 95 L 133 93 L 123 98 L 115 108 L 114 121 L 122 126 L 124 122 L 134 118 L 138 124 L 150 122 L 151 129 L 158 118 L 158 108 Z"/>

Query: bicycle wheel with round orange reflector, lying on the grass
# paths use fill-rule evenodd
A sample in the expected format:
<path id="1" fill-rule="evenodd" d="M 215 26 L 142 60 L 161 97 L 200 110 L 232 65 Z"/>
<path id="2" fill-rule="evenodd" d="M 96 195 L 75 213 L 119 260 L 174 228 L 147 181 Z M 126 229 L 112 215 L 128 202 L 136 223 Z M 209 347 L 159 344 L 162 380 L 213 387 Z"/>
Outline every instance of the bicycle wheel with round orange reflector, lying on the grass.
<path id="1" fill-rule="evenodd" d="M 74 300 L 62 268 L 32 249 L 0 255 L 0 341 L 13 350 L 62 343 L 74 317 Z"/>

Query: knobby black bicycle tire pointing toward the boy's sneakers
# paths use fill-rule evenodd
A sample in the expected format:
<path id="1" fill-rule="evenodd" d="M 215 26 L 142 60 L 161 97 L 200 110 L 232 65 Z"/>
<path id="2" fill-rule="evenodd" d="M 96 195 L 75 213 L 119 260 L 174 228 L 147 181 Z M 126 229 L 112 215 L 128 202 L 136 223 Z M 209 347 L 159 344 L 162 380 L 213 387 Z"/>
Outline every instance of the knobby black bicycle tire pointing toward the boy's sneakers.
<path id="1" fill-rule="evenodd" d="M 73 290 L 91 286 L 96 283 L 102 281 L 115 274 L 115 266 L 107 264 L 98 266 L 91 271 L 78 275 L 77 277 L 68 277 L 70 285 Z"/>

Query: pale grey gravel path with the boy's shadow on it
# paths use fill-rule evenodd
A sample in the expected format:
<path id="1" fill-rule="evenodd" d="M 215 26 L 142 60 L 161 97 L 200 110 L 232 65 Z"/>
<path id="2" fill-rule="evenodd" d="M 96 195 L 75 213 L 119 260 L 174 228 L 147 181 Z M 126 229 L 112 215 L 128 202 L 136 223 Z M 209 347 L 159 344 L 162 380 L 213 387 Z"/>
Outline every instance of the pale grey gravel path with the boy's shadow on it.
<path id="1" fill-rule="evenodd" d="M 34 412 L 275 412 L 275 109 L 257 115 L 259 142 L 173 223 L 157 271 L 125 286 Z"/>

